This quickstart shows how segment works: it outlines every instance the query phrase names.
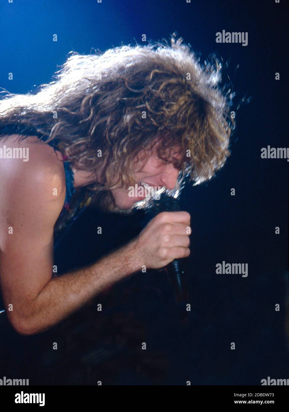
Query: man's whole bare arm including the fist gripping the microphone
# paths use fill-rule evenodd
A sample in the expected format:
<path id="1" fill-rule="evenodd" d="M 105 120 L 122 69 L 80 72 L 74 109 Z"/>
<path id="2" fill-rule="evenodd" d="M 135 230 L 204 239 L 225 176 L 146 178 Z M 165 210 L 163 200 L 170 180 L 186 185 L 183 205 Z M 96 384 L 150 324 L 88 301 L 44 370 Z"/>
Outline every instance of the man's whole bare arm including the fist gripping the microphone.
<path id="1" fill-rule="evenodd" d="M 157 269 L 190 254 L 190 215 L 163 212 L 126 246 L 52 279 L 53 228 L 64 203 L 65 174 L 51 147 L 30 140 L 29 162 L 0 162 L 0 286 L 18 332 L 41 332 L 143 265 Z"/>

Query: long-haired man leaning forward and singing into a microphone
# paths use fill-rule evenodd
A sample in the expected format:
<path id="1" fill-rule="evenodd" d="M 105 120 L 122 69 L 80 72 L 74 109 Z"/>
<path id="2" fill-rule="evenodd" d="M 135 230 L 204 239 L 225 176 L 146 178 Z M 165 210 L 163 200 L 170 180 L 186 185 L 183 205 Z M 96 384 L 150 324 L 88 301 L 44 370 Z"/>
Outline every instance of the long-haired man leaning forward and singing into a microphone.
<path id="1" fill-rule="evenodd" d="M 233 95 L 220 89 L 215 62 L 200 66 L 173 35 L 171 44 L 73 52 L 54 82 L 2 98 L 2 153 L 29 153 L 28 161 L 0 156 L 0 286 L 20 334 L 47 330 L 143 265 L 190 254 L 189 213 L 164 212 L 94 264 L 59 277 L 52 270 L 56 231 L 92 193 L 103 209 L 130 213 L 145 196 L 129 187 L 173 189 L 188 165 L 202 183 L 223 166 Z"/>

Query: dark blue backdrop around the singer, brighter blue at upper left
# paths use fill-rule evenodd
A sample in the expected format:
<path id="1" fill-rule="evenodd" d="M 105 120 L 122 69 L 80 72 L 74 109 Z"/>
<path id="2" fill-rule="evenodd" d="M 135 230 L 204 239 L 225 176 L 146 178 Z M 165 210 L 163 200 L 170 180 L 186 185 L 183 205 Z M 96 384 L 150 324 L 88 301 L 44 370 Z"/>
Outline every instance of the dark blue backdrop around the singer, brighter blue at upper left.
<path id="1" fill-rule="evenodd" d="M 181 321 L 162 272 L 136 274 L 45 334 L 9 329 L 0 376 L 19 370 L 31 384 L 260 384 L 288 371 L 288 166 L 261 148 L 288 147 L 285 1 L 37 1 L 0 5 L 0 87 L 26 93 L 51 81 L 70 50 L 89 54 L 175 31 L 200 53 L 216 52 L 233 83 L 237 110 L 232 154 L 216 178 L 186 187 L 191 215 L 188 258 L 192 310 Z M 248 45 L 218 44 L 216 32 L 248 32 Z M 53 34 L 58 41 L 53 42 Z M 239 65 L 239 68 L 237 66 Z M 13 72 L 14 80 L 7 80 Z M 275 73 L 280 80 L 275 80 Z M 286 96 L 286 100 L 285 100 Z M 235 109 L 236 110 L 236 107 Z M 235 188 L 236 195 L 230 190 Z M 102 226 L 102 235 L 96 228 Z M 275 234 L 275 227 L 280 234 Z M 62 272 L 86 265 L 140 230 L 139 216 L 90 208 L 57 250 Z M 249 275 L 216 275 L 216 263 L 247 262 Z M 63 297 L 65 298 L 65 297 Z M 103 303 L 103 312 L 95 304 Z M 275 311 L 275 304 L 280 311 Z M 288 310 L 288 309 L 287 309 Z M 69 332 L 67 332 L 67 330 Z M 71 332 L 73 331 L 73 332 Z M 287 341 L 286 341 L 287 331 Z M 117 338 L 115 338 L 117 336 Z M 51 350 L 52 342 L 59 349 Z M 74 346 L 73 346 L 74 342 Z M 147 350 L 141 351 L 141 342 Z M 230 349 L 235 342 L 236 349 Z M 105 349 L 103 349 L 105 348 Z M 101 355 L 103 351 L 106 355 Z M 93 353 L 90 360 L 86 355 Z M 1 353 L 0 353 L 1 356 Z M 18 356 L 17 365 L 12 358 Z M 94 359 L 94 360 L 92 360 Z"/>

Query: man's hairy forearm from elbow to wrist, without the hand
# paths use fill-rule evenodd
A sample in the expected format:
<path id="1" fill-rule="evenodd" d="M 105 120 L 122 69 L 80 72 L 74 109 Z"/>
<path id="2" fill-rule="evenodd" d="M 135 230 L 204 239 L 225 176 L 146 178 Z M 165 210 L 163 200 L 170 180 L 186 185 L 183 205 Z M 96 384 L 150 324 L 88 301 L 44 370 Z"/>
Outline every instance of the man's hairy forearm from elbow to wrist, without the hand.
<path id="1" fill-rule="evenodd" d="M 135 246 L 136 241 L 132 241 L 93 265 L 51 279 L 33 302 L 23 308 L 23 317 L 15 325 L 16 329 L 24 335 L 42 332 L 107 287 L 137 272 L 141 263 L 134 254 Z"/>

